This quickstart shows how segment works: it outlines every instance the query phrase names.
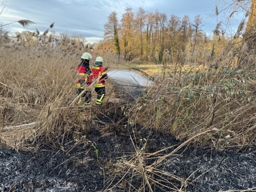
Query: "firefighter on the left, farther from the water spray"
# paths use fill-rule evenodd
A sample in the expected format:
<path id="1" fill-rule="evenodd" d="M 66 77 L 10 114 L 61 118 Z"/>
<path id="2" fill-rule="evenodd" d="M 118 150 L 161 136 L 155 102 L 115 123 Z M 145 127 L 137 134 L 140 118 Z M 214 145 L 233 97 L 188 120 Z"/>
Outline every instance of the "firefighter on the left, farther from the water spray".
<path id="1" fill-rule="evenodd" d="M 76 82 L 76 92 L 79 95 L 84 89 L 86 89 L 87 86 L 90 85 L 90 66 L 89 62 L 92 58 L 90 53 L 83 53 L 81 56 L 81 62 L 77 66 L 77 82 Z M 91 90 L 87 90 L 83 93 L 83 95 L 80 97 L 80 100 L 78 103 L 84 103 L 86 105 L 90 105 L 92 99 L 92 92 Z"/>

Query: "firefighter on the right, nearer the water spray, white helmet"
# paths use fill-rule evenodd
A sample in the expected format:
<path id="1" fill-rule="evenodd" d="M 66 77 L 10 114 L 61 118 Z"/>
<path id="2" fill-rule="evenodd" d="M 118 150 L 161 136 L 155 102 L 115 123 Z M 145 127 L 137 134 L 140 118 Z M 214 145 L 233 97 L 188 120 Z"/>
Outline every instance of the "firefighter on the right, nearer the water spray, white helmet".
<path id="1" fill-rule="evenodd" d="M 90 74 L 90 80 L 96 80 L 95 83 L 95 92 L 97 93 L 97 101 L 96 104 L 102 104 L 102 100 L 106 94 L 106 78 L 108 78 L 108 74 L 106 73 L 106 69 L 102 66 L 103 59 L 102 57 L 97 57 L 95 60 L 95 64 L 92 67 L 92 72 Z"/>

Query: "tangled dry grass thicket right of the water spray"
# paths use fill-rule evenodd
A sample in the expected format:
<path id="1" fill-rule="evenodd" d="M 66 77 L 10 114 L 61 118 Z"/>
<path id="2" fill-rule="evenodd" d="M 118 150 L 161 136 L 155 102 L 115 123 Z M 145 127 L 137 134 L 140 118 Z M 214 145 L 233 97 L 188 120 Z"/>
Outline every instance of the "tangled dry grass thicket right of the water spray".
<path id="1" fill-rule="evenodd" d="M 255 60 L 255 58 L 254 58 Z M 175 75 L 178 74 L 178 75 Z M 256 142 L 254 71 L 218 66 L 158 76 L 130 110 L 133 124 L 195 144 L 243 148 Z"/>

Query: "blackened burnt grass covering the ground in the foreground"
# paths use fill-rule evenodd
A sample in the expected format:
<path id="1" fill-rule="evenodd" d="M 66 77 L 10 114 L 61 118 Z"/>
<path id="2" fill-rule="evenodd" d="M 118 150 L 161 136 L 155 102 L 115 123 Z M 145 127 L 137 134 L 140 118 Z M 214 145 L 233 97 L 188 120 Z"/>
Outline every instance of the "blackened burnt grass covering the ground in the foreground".
<path id="1" fill-rule="evenodd" d="M 118 171 L 115 165 L 132 159 L 135 148 L 144 146 L 145 154 L 162 150 L 159 157 L 170 154 L 183 142 L 154 128 L 130 127 L 121 105 L 106 112 L 106 116 L 97 116 L 96 120 L 78 144 L 70 136 L 64 146 L 44 144 L 36 152 L 17 152 L 0 143 L 0 191 L 103 192 L 111 187 L 114 188 L 108 191 L 143 191 L 140 174 L 133 174 L 128 168 Z M 108 131 L 102 132 L 106 125 Z M 182 186 L 182 182 L 164 172 L 188 178 L 183 191 L 256 191 L 255 149 L 218 151 L 191 145 L 175 154 L 158 165 L 162 173 L 152 175 L 158 181 L 151 186 L 155 192 L 178 191 L 173 189 Z M 144 164 L 154 164 L 155 160 L 145 159 Z M 145 191 L 149 189 L 145 187 Z"/>

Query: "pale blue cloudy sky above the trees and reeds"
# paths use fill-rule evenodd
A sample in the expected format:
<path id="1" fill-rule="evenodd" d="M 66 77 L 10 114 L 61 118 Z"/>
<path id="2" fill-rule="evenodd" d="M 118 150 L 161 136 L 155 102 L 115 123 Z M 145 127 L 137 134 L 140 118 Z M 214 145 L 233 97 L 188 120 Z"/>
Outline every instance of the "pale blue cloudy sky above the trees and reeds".
<path id="1" fill-rule="evenodd" d="M 211 34 L 217 19 L 212 17 L 215 12 L 216 0 L 0 0 L 6 3 L 7 10 L 0 15 L 0 21 L 8 24 L 18 20 L 31 20 L 28 28 L 22 28 L 17 22 L 8 25 L 10 33 L 14 31 L 36 28 L 43 33 L 54 23 L 56 33 L 81 34 L 87 42 L 98 42 L 104 37 L 104 24 L 111 12 L 116 11 L 118 19 L 122 18 L 126 8 L 135 13 L 140 7 L 145 11 L 171 14 L 182 18 L 188 15 L 190 22 L 196 15 L 202 18 L 202 30 Z"/>

